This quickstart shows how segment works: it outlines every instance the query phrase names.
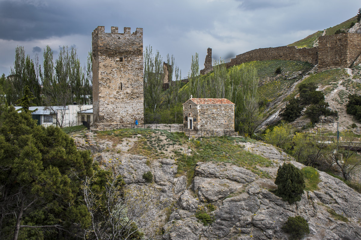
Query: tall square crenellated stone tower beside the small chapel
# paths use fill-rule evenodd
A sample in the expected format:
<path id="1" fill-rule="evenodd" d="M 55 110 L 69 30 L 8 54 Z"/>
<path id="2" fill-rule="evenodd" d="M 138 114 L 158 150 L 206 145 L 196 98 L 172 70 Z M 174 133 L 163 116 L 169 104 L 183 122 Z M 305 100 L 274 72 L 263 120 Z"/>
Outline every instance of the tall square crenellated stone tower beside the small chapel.
<path id="1" fill-rule="evenodd" d="M 143 28 L 105 33 L 98 26 L 92 56 L 94 123 L 143 123 Z"/>

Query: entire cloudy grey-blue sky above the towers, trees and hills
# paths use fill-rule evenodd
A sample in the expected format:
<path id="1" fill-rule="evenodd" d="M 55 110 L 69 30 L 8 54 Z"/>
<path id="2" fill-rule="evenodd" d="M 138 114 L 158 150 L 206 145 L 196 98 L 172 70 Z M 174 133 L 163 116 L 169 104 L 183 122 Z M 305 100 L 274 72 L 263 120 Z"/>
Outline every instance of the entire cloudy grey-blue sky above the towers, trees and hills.
<path id="1" fill-rule="evenodd" d="M 0 0 L 0 74 L 13 66 L 16 46 L 33 58 L 49 45 L 75 46 L 82 63 L 97 26 L 143 28 L 151 45 L 175 62 L 186 77 L 192 55 L 200 69 L 208 47 L 213 58 L 230 58 L 260 47 L 277 47 L 357 14 L 358 0 Z"/>

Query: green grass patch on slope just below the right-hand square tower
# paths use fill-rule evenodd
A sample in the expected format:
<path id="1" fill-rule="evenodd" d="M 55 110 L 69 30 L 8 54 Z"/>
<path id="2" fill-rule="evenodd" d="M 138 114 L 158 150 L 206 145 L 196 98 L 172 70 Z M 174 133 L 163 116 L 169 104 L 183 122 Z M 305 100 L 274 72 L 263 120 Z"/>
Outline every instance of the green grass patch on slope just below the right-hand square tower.
<path id="1" fill-rule="evenodd" d="M 313 82 L 317 86 L 319 85 L 325 86 L 325 85 L 330 85 L 331 83 L 336 83 L 340 79 L 345 77 L 348 77 L 346 70 L 336 68 L 336 69 L 330 69 L 316 74 L 312 74 L 309 77 L 307 77 L 305 80 L 303 80 L 301 83 Z"/>

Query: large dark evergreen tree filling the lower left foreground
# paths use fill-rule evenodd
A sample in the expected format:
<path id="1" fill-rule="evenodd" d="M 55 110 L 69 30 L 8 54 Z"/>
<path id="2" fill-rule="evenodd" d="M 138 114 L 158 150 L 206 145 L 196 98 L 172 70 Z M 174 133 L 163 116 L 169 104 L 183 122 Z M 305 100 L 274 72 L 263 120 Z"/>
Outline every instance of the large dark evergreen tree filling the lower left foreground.
<path id="1" fill-rule="evenodd" d="M 3 115 L 0 239 L 74 239 L 90 223 L 80 192 L 80 180 L 92 176 L 89 152 L 30 114 L 10 107 Z"/>

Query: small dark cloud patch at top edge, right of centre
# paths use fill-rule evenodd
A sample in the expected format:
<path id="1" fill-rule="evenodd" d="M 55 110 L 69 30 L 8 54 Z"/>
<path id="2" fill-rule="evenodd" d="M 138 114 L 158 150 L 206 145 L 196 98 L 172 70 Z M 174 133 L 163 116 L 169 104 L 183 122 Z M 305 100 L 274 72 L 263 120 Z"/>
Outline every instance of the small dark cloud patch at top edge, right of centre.
<path id="1" fill-rule="evenodd" d="M 294 0 L 236 0 L 241 2 L 238 6 L 244 10 L 257 10 L 265 8 L 283 8 L 297 4 Z"/>

